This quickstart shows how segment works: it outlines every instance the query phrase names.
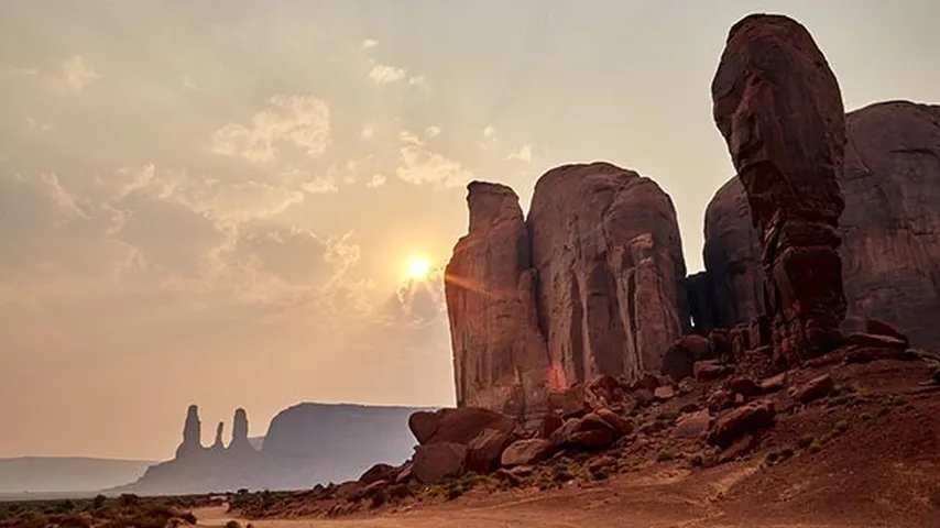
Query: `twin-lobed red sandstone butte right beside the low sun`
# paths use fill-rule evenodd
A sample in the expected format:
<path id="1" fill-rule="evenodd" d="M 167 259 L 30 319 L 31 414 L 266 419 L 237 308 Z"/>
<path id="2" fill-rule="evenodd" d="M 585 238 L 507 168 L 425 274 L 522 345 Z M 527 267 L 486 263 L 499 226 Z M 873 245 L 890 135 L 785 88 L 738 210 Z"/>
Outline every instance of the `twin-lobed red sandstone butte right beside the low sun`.
<path id="1" fill-rule="evenodd" d="M 659 370 L 689 329 L 668 195 L 606 163 L 566 165 L 538 180 L 523 223 L 507 187 L 468 191 L 446 274 L 461 405 L 533 419 L 551 391 Z"/>

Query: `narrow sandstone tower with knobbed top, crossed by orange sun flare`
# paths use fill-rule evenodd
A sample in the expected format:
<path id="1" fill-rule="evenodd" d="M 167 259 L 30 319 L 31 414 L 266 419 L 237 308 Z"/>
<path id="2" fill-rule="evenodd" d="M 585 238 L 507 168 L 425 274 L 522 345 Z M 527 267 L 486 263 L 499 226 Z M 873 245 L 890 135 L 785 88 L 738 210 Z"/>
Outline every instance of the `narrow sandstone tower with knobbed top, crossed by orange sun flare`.
<path id="1" fill-rule="evenodd" d="M 467 187 L 470 229 L 445 271 L 459 407 L 545 414 L 548 353 L 535 312 L 535 270 L 516 194 Z"/>

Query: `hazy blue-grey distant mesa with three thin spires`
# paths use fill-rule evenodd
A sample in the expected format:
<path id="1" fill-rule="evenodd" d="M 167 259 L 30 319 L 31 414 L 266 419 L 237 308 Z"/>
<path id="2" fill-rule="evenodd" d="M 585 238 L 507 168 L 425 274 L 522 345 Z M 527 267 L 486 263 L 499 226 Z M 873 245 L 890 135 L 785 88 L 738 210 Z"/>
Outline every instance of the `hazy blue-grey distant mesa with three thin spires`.
<path id="1" fill-rule="evenodd" d="M 248 414 L 237 409 L 232 436 L 225 424 L 211 447 L 199 442 L 199 409 L 190 405 L 176 457 L 151 465 L 133 483 L 110 493 L 144 495 L 247 490 L 300 490 L 358 476 L 374 461 L 406 460 L 415 443 L 407 427 L 411 407 L 298 404 L 282 410 L 263 438 L 248 437 Z M 256 443 L 258 446 L 254 446 Z"/>

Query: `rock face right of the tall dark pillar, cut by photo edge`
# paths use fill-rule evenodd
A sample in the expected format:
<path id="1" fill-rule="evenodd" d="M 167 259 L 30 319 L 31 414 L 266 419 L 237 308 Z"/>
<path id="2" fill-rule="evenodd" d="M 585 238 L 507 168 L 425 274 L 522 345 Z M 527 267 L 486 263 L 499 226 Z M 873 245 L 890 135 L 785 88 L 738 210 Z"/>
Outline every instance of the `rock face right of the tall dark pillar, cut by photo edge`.
<path id="1" fill-rule="evenodd" d="M 940 341 L 940 106 L 888 101 L 846 116 L 842 262 L 854 327 Z"/>

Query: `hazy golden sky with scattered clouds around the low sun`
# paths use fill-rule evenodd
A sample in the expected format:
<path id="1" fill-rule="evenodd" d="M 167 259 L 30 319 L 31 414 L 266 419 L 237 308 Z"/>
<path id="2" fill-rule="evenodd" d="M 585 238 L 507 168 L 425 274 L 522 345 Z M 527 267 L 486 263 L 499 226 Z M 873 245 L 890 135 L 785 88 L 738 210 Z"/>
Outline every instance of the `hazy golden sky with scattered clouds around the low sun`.
<path id="1" fill-rule="evenodd" d="M 710 82 L 762 11 L 846 109 L 940 97 L 931 0 L 0 2 L 0 457 L 166 459 L 190 403 L 205 443 L 237 407 L 452 405 L 473 179 L 527 209 L 554 166 L 635 169 L 700 270 Z"/>

